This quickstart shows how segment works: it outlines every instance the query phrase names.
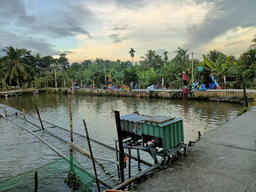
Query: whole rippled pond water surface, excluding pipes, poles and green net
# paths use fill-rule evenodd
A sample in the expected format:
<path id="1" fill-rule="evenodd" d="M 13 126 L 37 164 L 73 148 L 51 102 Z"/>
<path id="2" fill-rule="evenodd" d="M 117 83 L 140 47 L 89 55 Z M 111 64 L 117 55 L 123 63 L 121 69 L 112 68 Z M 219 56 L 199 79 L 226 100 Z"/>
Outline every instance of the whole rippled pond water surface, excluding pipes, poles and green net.
<path id="1" fill-rule="evenodd" d="M 68 100 L 72 100 L 73 130 L 85 135 L 82 119 L 87 122 L 90 137 L 114 146 L 117 139 L 114 110 L 120 111 L 120 116 L 139 112 L 147 115 L 171 115 L 183 117 L 184 140 L 186 143 L 195 141 L 198 131 L 201 134 L 216 129 L 218 125 L 236 117 L 242 108 L 239 104 L 219 103 L 196 100 L 169 100 L 169 99 L 141 99 L 131 97 L 99 97 L 83 95 L 58 95 L 42 93 L 39 95 L 24 95 L 20 97 L 1 98 L 0 103 L 9 105 L 18 110 L 22 108 L 33 117 L 37 117 L 35 104 L 38 105 L 41 119 L 70 129 Z M 55 132 L 61 130 L 55 129 Z M 17 125 L 0 117 L 0 180 L 16 176 L 31 169 L 38 168 L 55 161 L 59 157 L 55 152 L 41 144 L 41 142 Z M 50 142 L 56 149 L 68 155 L 70 144 L 51 136 L 46 132 L 38 132 L 40 137 Z M 69 135 L 63 133 L 69 139 Z M 74 135 L 74 142 L 87 148 L 83 137 Z M 115 152 L 92 142 L 93 154 L 115 159 Z M 134 153 L 135 155 L 135 153 Z M 74 151 L 85 169 L 93 173 L 92 163 L 87 156 Z M 150 161 L 152 158 L 142 153 L 142 159 Z M 147 166 L 141 164 L 141 168 Z M 100 178 L 107 182 L 118 183 L 117 167 L 112 163 L 100 162 L 97 164 Z M 136 161 L 132 161 L 132 174 L 138 172 Z M 127 179 L 127 169 L 125 170 Z"/>

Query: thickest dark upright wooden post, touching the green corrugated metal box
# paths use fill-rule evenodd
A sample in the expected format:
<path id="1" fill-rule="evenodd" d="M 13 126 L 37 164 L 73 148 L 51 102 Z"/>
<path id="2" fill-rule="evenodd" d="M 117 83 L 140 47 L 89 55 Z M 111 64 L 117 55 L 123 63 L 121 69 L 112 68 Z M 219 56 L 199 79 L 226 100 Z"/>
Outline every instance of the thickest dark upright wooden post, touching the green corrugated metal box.
<path id="1" fill-rule="evenodd" d="M 115 114 L 115 124 L 117 126 L 117 136 L 118 136 L 118 142 L 119 142 L 119 166 L 120 166 L 121 183 L 124 183 L 124 146 L 122 144 L 120 114 L 119 114 L 119 111 L 117 110 L 114 110 L 114 114 Z"/>

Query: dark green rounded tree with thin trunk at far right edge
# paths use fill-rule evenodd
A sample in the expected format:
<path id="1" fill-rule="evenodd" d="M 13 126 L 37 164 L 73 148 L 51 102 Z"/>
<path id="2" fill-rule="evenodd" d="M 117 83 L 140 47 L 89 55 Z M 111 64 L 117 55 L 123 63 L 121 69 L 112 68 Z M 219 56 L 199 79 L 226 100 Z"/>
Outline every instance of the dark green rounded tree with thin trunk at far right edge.
<path id="1" fill-rule="evenodd" d="M 248 50 L 240 56 L 238 60 L 238 75 L 242 81 L 245 104 L 246 107 L 248 107 L 245 83 L 247 81 L 252 82 L 253 78 L 256 76 L 256 49 Z"/>

